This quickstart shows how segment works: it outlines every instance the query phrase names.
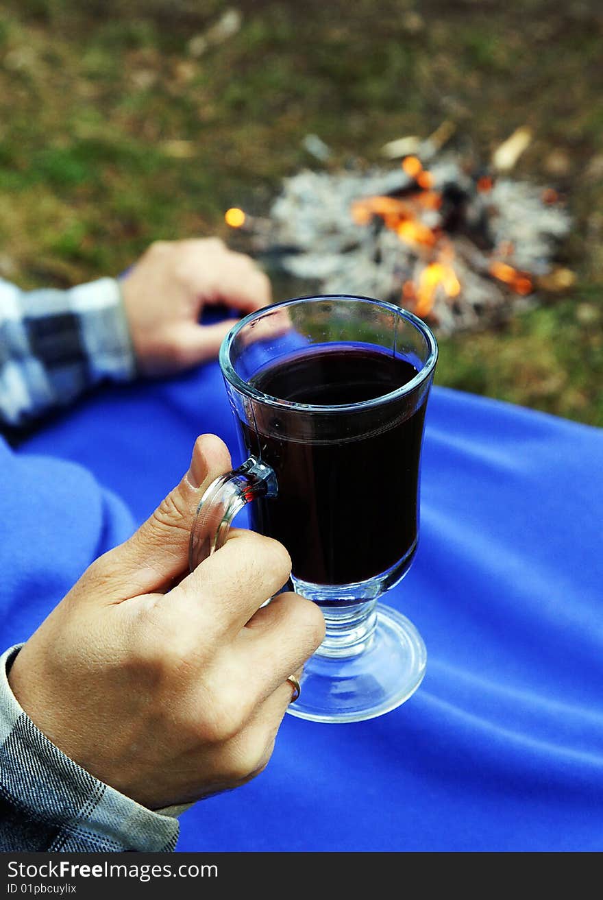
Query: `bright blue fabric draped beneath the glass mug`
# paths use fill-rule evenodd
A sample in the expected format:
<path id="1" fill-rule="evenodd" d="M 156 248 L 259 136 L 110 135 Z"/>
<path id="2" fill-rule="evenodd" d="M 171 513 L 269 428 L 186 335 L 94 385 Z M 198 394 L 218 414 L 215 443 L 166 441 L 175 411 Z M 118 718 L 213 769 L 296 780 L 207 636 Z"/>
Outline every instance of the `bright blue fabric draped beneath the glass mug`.
<path id="1" fill-rule="evenodd" d="M 217 365 L 98 392 L 0 447 L 3 644 L 130 533 L 212 431 Z M 389 461 L 395 464 L 395 461 Z M 285 716 L 267 770 L 182 817 L 182 851 L 603 848 L 603 434 L 435 389 L 419 553 L 387 602 L 428 674 L 355 725 Z"/>

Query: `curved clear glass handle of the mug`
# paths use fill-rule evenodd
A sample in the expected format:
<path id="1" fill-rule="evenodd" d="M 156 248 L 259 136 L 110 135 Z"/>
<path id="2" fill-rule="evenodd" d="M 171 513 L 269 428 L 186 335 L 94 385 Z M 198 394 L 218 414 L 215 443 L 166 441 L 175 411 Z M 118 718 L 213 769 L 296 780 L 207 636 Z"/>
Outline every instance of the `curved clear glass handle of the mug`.
<path id="1" fill-rule="evenodd" d="M 277 492 L 273 469 L 256 456 L 249 456 L 238 469 L 211 482 L 194 514 L 188 545 L 191 572 L 214 551 L 220 550 L 232 519 L 246 503 L 257 497 L 276 497 Z"/>

